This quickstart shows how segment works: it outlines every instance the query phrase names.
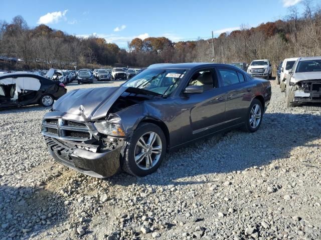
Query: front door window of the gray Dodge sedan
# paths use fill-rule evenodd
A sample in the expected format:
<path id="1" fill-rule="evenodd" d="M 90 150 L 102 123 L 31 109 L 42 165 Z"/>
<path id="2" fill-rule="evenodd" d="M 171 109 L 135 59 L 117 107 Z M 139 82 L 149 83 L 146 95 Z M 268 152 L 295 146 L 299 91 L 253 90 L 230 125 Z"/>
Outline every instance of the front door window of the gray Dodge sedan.
<path id="1" fill-rule="evenodd" d="M 203 69 L 195 72 L 188 85 L 204 86 L 204 91 L 210 90 L 213 87 L 217 87 L 217 81 L 213 79 L 213 72 L 214 69 Z"/>

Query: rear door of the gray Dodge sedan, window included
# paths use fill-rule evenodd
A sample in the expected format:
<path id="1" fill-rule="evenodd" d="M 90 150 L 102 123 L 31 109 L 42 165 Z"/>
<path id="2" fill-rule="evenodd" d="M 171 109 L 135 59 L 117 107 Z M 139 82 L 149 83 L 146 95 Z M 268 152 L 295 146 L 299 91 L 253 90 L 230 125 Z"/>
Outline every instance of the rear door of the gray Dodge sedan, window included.
<path id="1" fill-rule="evenodd" d="M 228 126 L 242 123 L 251 104 L 253 84 L 246 80 L 241 71 L 228 67 L 217 69 L 226 96 L 226 123 Z"/>

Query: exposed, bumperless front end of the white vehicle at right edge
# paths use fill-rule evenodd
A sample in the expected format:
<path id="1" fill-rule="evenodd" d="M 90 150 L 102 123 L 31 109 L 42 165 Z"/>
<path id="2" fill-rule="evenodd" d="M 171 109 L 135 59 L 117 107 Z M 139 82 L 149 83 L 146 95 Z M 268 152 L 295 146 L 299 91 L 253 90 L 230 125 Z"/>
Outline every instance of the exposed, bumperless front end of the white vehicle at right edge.
<path id="1" fill-rule="evenodd" d="M 294 87 L 295 102 L 321 102 L 321 80 L 290 82 Z"/>

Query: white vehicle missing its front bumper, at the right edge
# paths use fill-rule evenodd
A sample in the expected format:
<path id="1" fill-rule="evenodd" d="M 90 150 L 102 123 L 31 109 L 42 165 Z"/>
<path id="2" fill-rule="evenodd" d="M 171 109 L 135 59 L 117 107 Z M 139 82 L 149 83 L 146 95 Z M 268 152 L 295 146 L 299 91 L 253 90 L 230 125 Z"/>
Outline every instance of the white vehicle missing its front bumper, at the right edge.
<path id="1" fill-rule="evenodd" d="M 321 103 L 321 56 L 299 57 L 286 78 L 285 104 Z"/>

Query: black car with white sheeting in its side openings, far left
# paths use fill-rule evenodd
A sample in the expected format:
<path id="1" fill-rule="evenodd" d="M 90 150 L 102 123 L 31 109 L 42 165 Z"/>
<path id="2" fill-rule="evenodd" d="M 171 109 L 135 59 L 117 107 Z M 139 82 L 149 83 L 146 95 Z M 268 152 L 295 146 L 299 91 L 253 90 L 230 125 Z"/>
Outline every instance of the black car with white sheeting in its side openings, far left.
<path id="1" fill-rule="evenodd" d="M 67 92 L 65 85 L 33 73 L 0 75 L 0 108 L 30 104 L 51 106 Z"/>

